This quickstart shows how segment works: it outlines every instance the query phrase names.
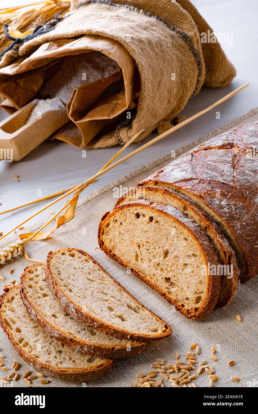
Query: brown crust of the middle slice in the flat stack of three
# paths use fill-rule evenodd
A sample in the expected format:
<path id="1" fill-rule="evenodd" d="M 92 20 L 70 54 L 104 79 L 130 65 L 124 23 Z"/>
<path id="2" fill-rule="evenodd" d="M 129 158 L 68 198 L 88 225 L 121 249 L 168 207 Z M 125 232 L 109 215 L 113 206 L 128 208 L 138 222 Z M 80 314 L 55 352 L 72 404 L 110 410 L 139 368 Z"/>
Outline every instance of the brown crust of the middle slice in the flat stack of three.
<path id="1" fill-rule="evenodd" d="M 82 354 L 89 354 L 107 359 L 128 358 L 131 356 L 140 355 L 143 351 L 145 351 L 148 346 L 148 343 L 146 342 L 130 343 L 130 351 L 128 351 L 128 344 L 126 344 L 126 342 L 124 344 L 121 344 L 121 346 L 116 345 L 112 347 L 109 344 L 101 344 L 97 342 L 92 343 L 89 341 L 76 339 L 74 336 L 68 334 L 68 332 L 58 329 L 46 318 L 44 318 L 39 310 L 31 303 L 26 294 L 26 277 L 28 276 L 28 270 L 39 266 L 45 267 L 44 265 L 31 265 L 24 269 L 20 282 L 20 295 L 22 302 L 31 317 L 36 320 L 39 326 L 41 326 L 41 328 L 46 331 L 48 335 L 51 335 L 57 341 L 66 345 L 67 347 L 76 349 L 76 351 L 81 352 Z"/>

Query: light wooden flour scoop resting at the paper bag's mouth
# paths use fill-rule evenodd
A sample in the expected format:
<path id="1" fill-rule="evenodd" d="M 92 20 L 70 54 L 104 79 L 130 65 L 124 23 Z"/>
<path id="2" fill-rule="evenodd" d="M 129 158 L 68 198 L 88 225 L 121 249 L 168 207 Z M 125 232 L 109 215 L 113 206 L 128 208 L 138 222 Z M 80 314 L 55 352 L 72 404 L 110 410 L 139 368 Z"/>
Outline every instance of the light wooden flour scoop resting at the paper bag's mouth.
<path id="1" fill-rule="evenodd" d="M 34 99 L 0 123 L 1 156 L 5 150 L 12 150 L 13 161 L 19 161 L 69 121 L 66 109 L 53 109 L 42 113 L 41 119 L 36 118 L 27 123 L 38 102 L 39 99 Z"/>

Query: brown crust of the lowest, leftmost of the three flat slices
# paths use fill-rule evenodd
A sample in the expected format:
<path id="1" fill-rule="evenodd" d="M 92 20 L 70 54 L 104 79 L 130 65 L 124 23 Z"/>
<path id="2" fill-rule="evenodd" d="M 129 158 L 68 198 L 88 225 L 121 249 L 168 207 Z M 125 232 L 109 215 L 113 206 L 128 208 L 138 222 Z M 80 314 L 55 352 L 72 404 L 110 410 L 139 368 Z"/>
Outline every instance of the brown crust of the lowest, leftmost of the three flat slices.
<path id="1" fill-rule="evenodd" d="M 5 324 L 4 319 L 2 318 L 2 303 L 7 298 L 9 292 L 13 290 L 19 289 L 19 286 L 12 286 L 10 288 L 6 288 L 4 293 L 0 296 L 0 325 L 2 330 L 7 335 L 10 343 L 14 347 L 14 349 L 18 352 L 19 356 L 24 359 L 29 365 L 33 366 L 36 371 L 39 371 L 46 376 L 57 377 L 61 378 L 66 381 L 92 381 L 96 380 L 97 378 L 101 378 L 106 372 L 108 372 L 114 363 L 114 360 L 107 360 L 105 363 L 96 366 L 96 368 L 71 368 L 70 370 L 67 368 L 55 368 L 51 365 L 47 365 L 45 363 L 41 363 L 38 359 L 34 358 L 33 356 L 29 356 L 27 352 L 22 348 L 12 336 L 12 332 L 8 329 L 7 325 Z"/>

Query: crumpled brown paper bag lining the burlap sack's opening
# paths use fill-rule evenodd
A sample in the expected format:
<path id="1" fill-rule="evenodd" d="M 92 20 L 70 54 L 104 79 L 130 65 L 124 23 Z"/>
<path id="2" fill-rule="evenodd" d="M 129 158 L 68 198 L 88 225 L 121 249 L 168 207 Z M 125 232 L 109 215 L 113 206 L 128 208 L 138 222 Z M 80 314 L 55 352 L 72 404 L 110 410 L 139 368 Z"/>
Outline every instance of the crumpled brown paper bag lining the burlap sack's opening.
<path id="1" fill-rule="evenodd" d="M 73 89 L 67 103 L 67 113 L 77 126 L 75 145 L 82 148 L 105 126 L 110 124 L 129 107 L 133 98 L 134 64 L 123 46 L 99 37 L 82 37 L 76 40 L 58 40 L 43 44 L 32 55 L 0 70 L 0 93 L 5 96 L 2 108 L 7 112 L 19 108 L 42 94 L 47 80 L 58 75 L 62 58 L 88 53 L 87 62 L 92 62 L 92 51 L 104 53 L 120 67 L 110 76 L 86 83 Z M 2 82 L 1 82 L 2 79 Z M 17 84 L 19 82 L 19 87 Z M 41 89 L 41 87 L 43 88 Z M 52 97 L 52 96 L 51 96 Z M 8 106 L 9 103 L 9 106 Z M 68 128 L 69 130 L 69 128 Z M 57 134 L 58 139 L 71 143 L 70 137 Z"/>

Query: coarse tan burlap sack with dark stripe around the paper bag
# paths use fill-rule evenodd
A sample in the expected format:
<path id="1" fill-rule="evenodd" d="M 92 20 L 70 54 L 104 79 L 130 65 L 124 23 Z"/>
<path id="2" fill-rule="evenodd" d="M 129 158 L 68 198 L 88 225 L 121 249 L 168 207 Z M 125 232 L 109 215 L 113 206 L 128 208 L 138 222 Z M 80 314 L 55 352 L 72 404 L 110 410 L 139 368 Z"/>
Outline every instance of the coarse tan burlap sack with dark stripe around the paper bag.
<path id="1" fill-rule="evenodd" d="M 203 84 L 221 87 L 235 76 L 218 43 L 200 42 L 200 33 L 208 28 L 187 0 L 128 0 L 126 4 L 123 0 L 84 0 L 53 30 L 24 42 L 5 55 L 1 64 L 54 39 L 90 34 L 117 41 L 135 60 L 140 74 L 137 111 L 135 117 L 97 137 L 90 146 L 123 144 L 144 130 L 137 138 L 140 142 L 157 127 L 168 129 Z"/>

